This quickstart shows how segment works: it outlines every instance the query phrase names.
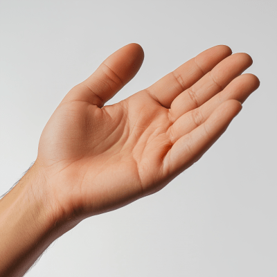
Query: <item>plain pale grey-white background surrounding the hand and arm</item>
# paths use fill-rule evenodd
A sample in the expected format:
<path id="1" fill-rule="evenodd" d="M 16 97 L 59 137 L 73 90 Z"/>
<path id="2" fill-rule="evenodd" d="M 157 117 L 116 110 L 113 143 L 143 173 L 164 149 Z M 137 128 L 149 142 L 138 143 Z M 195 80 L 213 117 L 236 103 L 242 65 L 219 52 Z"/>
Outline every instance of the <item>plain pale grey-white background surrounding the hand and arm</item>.
<path id="1" fill-rule="evenodd" d="M 64 95 L 118 48 L 145 60 L 108 104 L 217 44 L 260 88 L 159 193 L 81 222 L 26 276 L 277 276 L 276 1 L 0 1 L 0 195 L 37 157 Z M 1 239 L 1 235 L 0 235 Z"/>

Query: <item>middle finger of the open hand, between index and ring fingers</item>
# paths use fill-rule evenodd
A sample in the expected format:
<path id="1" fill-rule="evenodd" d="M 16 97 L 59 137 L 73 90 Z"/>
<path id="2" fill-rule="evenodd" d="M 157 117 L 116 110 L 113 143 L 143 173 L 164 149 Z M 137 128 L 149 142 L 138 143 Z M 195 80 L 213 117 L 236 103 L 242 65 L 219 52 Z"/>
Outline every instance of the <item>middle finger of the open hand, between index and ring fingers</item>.
<path id="1" fill-rule="evenodd" d="M 172 120 L 177 120 L 187 111 L 201 106 L 222 91 L 231 80 L 242 74 L 252 63 L 251 57 L 246 53 L 237 53 L 226 57 L 202 79 L 173 100 L 170 107 Z"/>

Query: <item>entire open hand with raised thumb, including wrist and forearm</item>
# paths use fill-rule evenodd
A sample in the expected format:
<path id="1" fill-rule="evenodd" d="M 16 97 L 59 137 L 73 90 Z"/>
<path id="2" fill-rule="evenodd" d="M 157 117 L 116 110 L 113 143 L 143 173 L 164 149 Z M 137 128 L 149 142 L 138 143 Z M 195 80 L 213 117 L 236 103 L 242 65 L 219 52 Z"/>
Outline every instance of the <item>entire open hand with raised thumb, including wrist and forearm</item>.
<path id="1" fill-rule="evenodd" d="M 110 55 L 66 94 L 37 159 L 0 201 L 0 276 L 23 276 L 86 217 L 156 193 L 195 163 L 259 87 L 246 53 L 209 48 L 114 105 L 143 62 L 139 44 Z"/>

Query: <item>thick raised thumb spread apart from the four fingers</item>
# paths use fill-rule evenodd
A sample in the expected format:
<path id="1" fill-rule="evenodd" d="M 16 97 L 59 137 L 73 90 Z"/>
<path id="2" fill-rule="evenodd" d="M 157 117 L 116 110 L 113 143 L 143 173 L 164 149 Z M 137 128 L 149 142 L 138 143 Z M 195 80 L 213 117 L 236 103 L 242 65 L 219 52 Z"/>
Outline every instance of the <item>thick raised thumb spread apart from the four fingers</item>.
<path id="1" fill-rule="evenodd" d="M 139 44 L 123 46 L 107 57 L 87 80 L 73 87 L 64 100 L 80 100 L 102 107 L 134 78 L 143 58 L 143 48 Z"/>

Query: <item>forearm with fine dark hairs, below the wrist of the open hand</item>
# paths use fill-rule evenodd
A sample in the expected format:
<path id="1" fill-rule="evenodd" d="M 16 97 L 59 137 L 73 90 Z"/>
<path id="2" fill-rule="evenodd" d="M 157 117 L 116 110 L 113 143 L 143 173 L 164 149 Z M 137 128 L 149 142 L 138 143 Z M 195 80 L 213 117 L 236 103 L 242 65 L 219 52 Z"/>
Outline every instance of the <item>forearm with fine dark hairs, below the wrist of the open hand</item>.
<path id="1" fill-rule="evenodd" d="M 0 200 L 0 276 L 23 276 L 62 233 L 60 219 L 35 166 Z"/>

